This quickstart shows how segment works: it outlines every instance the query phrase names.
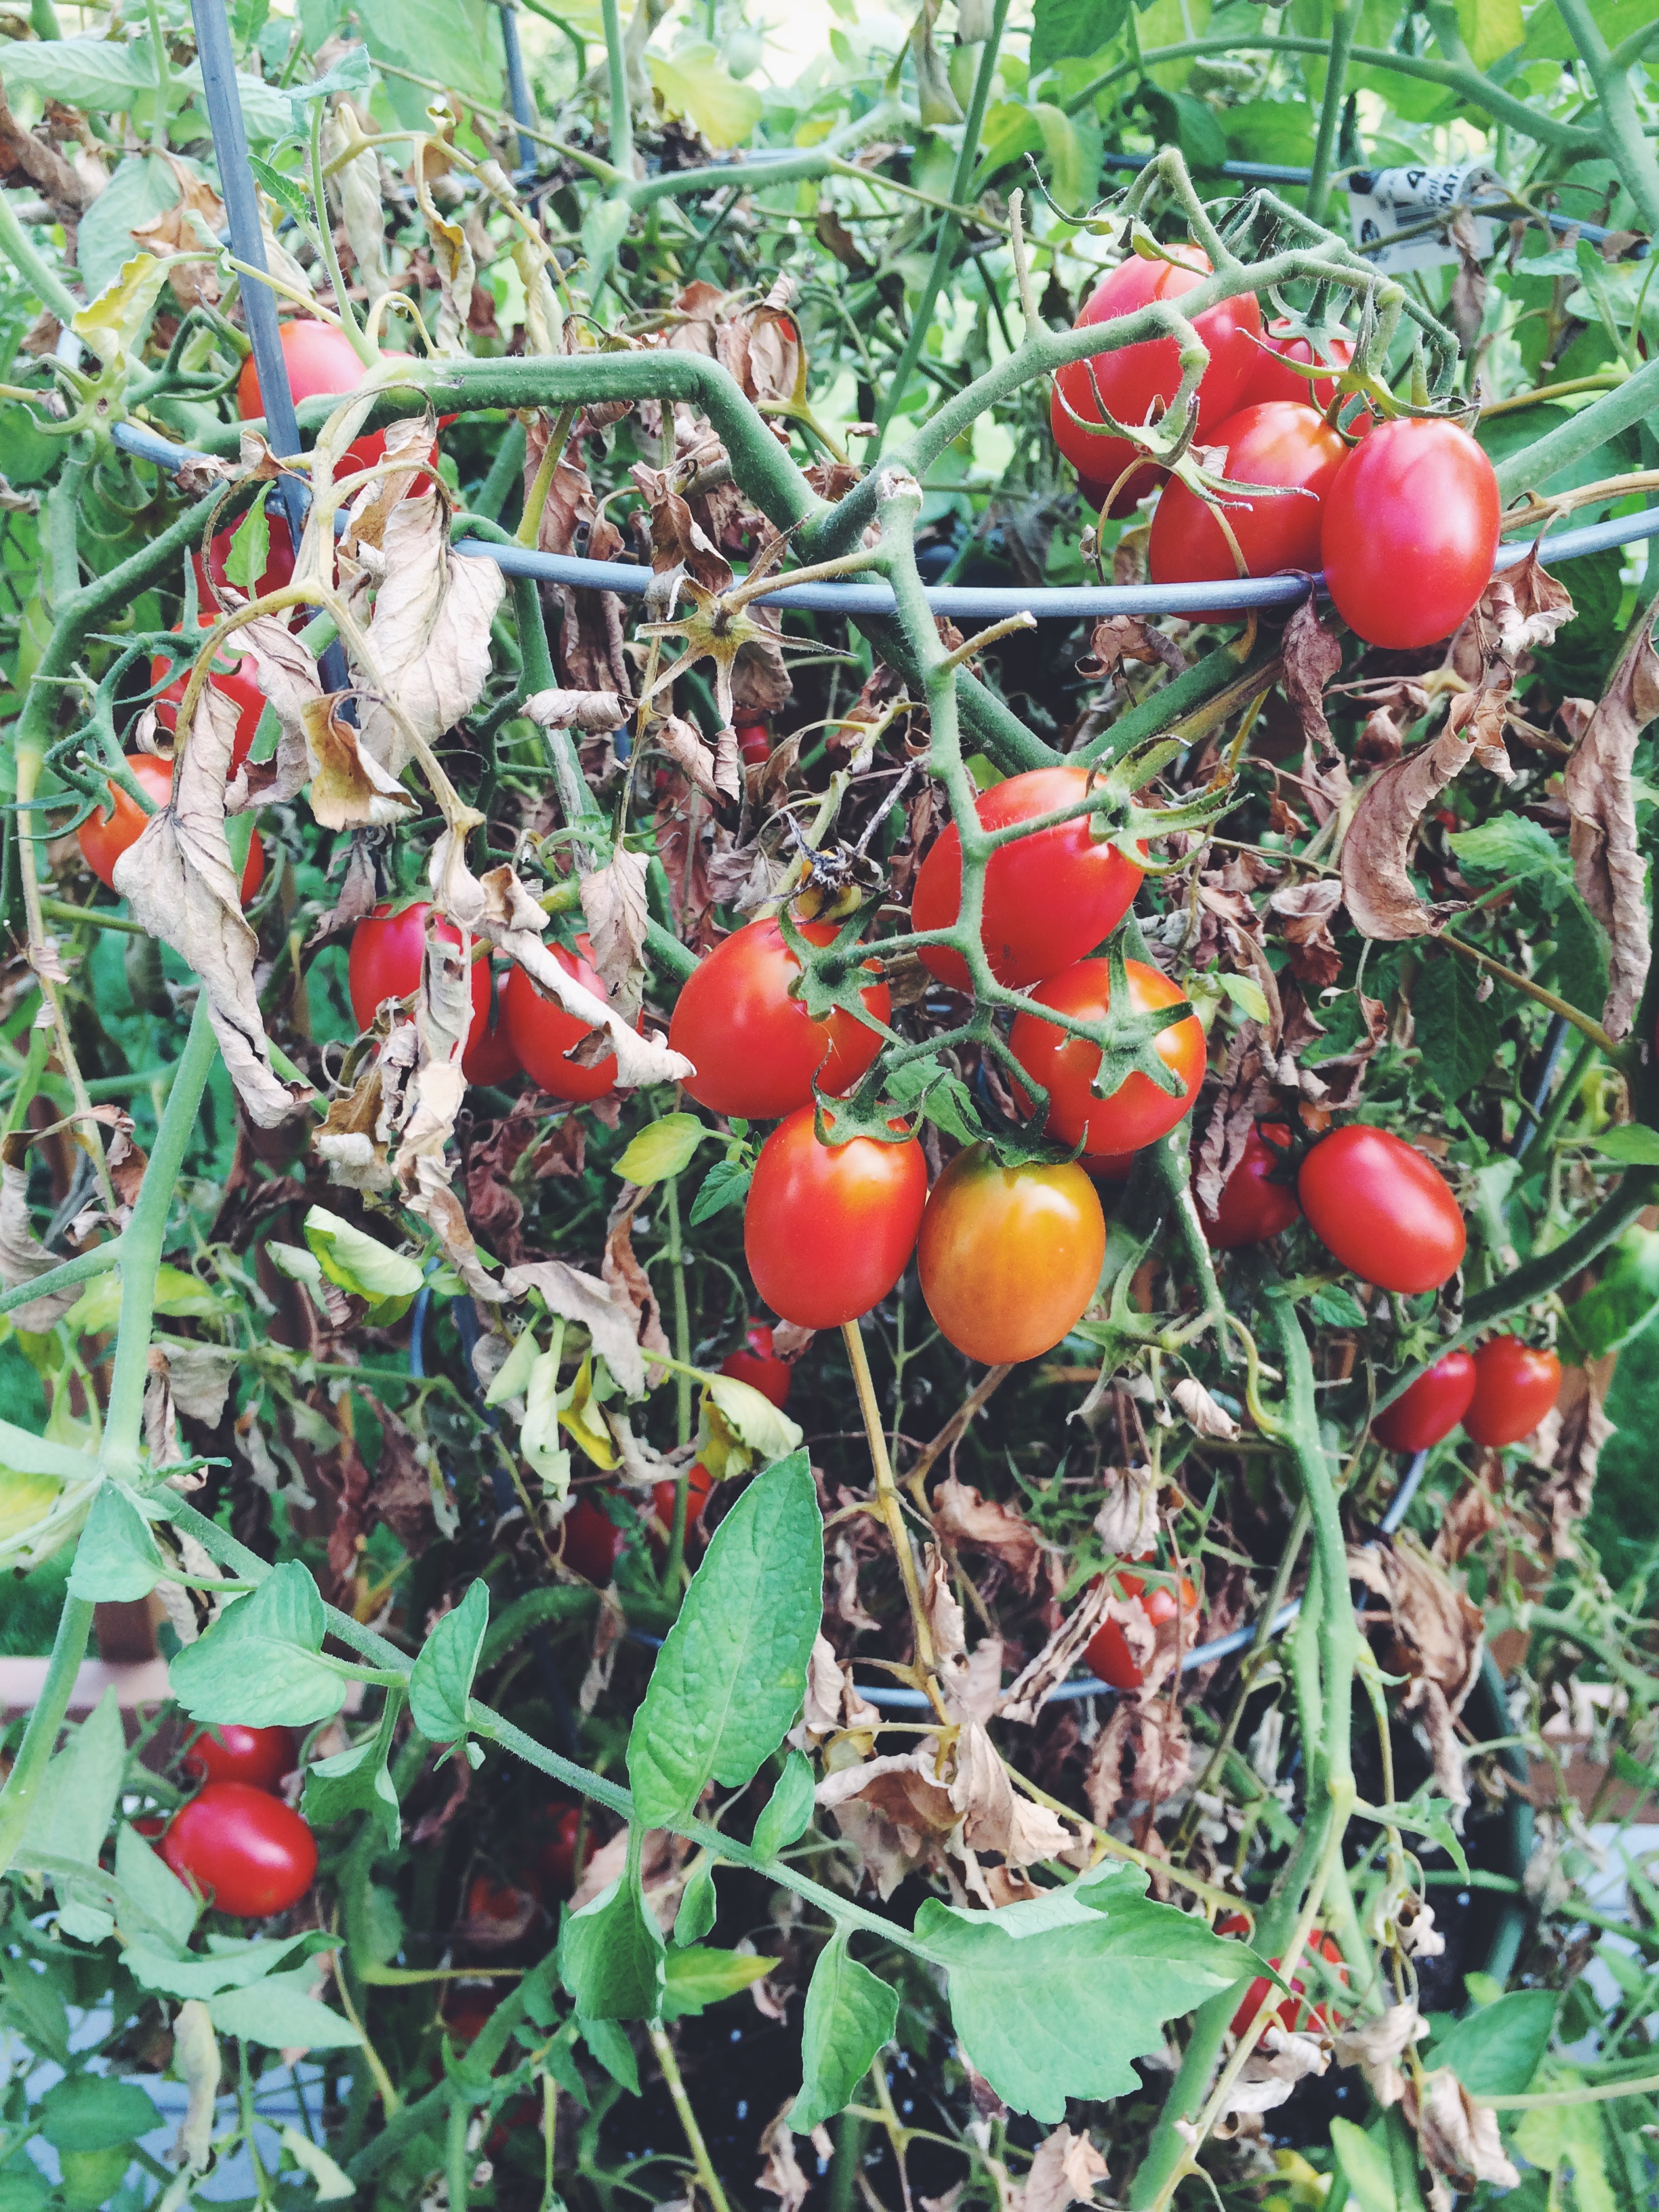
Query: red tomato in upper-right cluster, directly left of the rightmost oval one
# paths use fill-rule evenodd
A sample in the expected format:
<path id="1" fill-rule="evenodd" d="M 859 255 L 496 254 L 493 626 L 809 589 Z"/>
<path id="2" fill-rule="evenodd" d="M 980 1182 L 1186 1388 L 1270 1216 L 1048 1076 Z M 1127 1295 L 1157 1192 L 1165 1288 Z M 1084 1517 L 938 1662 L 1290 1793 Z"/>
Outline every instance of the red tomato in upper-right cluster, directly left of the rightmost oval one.
<path id="1" fill-rule="evenodd" d="M 1239 540 L 1245 575 L 1276 575 L 1281 568 L 1318 568 L 1321 500 L 1347 460 L 1340 431 L 1327 429 L 1312 407 L 1270 400 L 1241 407 L 1203 434 L 1206 445 L 1225 451 L 1212 465 L 1234 484 L 1292 484 L 1252 500 L 1228 495 L 1221 513 Z M 1146 546 L 1155 584 L 1199 584 L 1239 575 L 1221 522 L 1188 487 L 1172 478 L 1157 502 Z"/>

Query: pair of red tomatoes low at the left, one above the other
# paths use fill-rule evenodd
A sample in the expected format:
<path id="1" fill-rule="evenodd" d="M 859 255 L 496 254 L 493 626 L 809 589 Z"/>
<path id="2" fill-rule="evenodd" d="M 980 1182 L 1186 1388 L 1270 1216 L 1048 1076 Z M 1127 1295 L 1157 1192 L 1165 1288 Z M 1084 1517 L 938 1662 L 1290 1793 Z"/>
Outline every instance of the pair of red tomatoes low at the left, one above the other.
<path id="1" fill-rule="evenodd" d="M 316 1838 L 276 1796 L 299 1765 L 292 1728 L 204 1730 L 184 1756 L 206 1785 L 161 1834 L 161 1858 L 221 1911 L 268 1920 L 299 1905 L 316 1876 Z"/>

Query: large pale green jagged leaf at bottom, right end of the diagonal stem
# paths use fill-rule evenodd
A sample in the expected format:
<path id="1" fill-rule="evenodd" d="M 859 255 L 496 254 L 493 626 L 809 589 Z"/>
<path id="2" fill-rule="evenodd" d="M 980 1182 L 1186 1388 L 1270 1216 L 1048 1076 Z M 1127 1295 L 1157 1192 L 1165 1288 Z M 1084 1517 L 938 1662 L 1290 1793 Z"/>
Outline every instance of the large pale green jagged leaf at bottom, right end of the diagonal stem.
<path id="1" fill-rule="evenodd" d="M 949 1973 L 964 2053 L 1046 2126 L 1066 2097 L 1135 2095 L 1130 2059 L 1164 2048 L 1166 2020 L 1263 1971 L 1203 1920 L 1152 1905 L 1139 1867 L 1110 1863 L 995 1913 L 927 1898 L 916 1933 Z"/>

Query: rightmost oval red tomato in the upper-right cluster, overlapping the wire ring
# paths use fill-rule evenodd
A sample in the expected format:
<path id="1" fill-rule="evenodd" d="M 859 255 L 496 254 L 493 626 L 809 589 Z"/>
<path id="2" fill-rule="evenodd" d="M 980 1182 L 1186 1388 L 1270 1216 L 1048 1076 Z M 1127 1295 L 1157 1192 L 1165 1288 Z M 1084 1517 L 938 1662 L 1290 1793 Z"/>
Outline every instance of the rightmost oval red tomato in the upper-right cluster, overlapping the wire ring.
<path id="1" fill-rule="evenodd" d="M 1371 646 L 1449 637 L 1486 588 L 1500 520 L 1493 465 L 1469 431 L 1378 422 L 1325 493 L 1321 555 L 1336 613 Z"/>

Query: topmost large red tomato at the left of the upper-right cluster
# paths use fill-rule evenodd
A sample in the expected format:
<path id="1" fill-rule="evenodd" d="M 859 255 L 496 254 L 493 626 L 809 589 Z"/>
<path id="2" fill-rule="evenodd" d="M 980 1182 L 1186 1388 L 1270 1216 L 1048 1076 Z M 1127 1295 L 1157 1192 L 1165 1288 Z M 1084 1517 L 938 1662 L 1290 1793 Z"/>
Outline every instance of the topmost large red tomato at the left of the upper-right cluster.
<path id="1" fill-rule="evenodd" d="M 1177 301 L 1192 292 L 1210 274 L 1210 261 L 1197 246 L 1186 248 L 1188 265 L 1172 261 L 1141 261 L 1135 254 L 1104 276 L 1088 296 L 1088 305 L 1077 316 L 1075 330 L 1088 323 L 1110 323 L 1115 316 L 1135 314 L 1152 301 Z M 1245 383 L 1256 367 L 1254 334 L 1261 330 L 1261 307 L 1254 292 L 1221 301 L 1192 325 L 1210 347 L 1210 367 L 1199 383 L 1199 425 L 1219 422 L 1241 403 Z M 1095 372 L 1093 385 L 1088 372 Z M 1175 338 L 1146 338 L 1139 345 L 1121 345 L 1115 354 L 1095 354 L 1091 361 L 1068 361 L 1055 374 L 1055 394 L 1048 403 L 1048 422 L 1055 445 L 1088 484 L 1110 487 L 1135 460 L 1135 447 L 1126 438 L 1110 438 L 1084 429 L 1084 422 L 1099 422 L 1095 387 L 1106 403 L 1106 411 L 1124 425 L 1139 429 L 1150 414 L 1161 411 L 1181 385 L 1181 349 Z M 1071 409 L 1071 411 L 1068 411 Z M 1082 416 L 1079 422 L 1073 416 Z M 1135 500 L 1152 489 L 1150 465 L 1135 469 L 1113 502 L 1113 513 L 1126 515 Z"/>

